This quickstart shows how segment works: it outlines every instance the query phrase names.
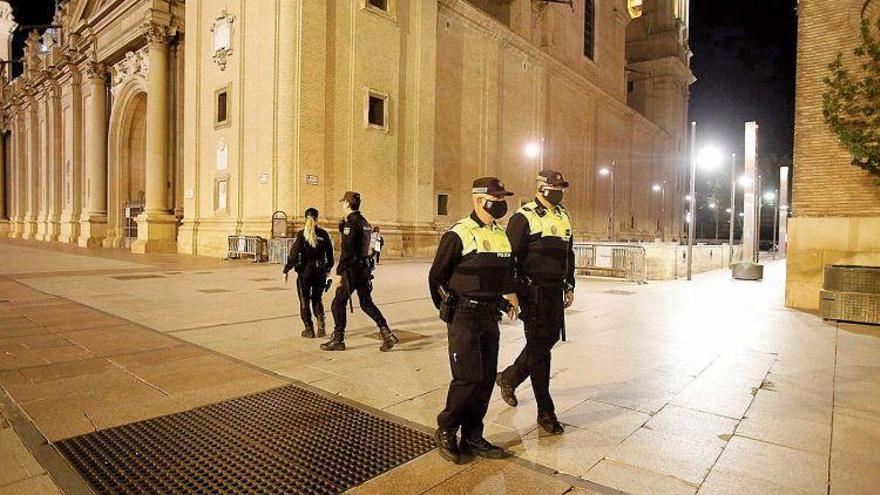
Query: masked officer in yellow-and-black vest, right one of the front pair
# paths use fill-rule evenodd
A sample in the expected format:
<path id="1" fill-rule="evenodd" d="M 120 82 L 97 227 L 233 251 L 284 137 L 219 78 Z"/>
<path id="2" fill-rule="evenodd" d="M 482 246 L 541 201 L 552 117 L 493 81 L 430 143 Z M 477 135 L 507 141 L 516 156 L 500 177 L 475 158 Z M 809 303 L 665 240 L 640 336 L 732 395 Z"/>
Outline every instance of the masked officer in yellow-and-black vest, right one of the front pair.
<path id="1" fill-rule="evenodd" d="M 496 377 L 501 398 L 512 407 L 517 405 L 516 387 L 531 377 L 538 425 L 554 435 L 564 429 L 550 397 L 550 350 L 565 325 L 564 310 L 574 302 L 574 240 L 571 218 L 562 207 L 568 185 L 555 170 L 538 173 L 535 199 L 510 217 L 507 238 L 516 267 L 526 345 Z"/>

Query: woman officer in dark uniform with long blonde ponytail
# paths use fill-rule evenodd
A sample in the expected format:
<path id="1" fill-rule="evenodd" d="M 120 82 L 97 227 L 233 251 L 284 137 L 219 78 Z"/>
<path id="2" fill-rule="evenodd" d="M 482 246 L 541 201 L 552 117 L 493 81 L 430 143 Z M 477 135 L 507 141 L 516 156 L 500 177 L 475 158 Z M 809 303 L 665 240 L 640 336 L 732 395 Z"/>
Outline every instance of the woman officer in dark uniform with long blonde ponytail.
<path id="1" fill-rule="evenodd" d="M 300 316 L 305 330 L 302 336 L 315 338 L 312 325 L 312 311 L 318 323 L 318 337 L 326 334 L 324 320 L 324 288 L 327 274 L 333 267 L 333 243 L 330 234 L 318 227 L 318 210 L 309 208 L 305 213 L 305 225 L 296 234 L 287 263 L 284 265 L 284 282 L 287 274 L 293 269 L 296 272 L 296 292 L 299 295 Z"/>

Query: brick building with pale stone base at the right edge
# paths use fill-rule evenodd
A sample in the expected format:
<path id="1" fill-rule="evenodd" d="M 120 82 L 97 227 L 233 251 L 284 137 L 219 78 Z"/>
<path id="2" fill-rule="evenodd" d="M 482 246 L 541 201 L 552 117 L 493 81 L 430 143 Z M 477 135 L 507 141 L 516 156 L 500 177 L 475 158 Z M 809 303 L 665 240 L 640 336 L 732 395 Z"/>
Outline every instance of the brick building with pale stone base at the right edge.
<path id="1" fill-rule="evenodd" d="M 788 223 L 786 305 L 819 308 L 826 264 L 880 265 L 880 187 L 850 165 L 852 157 L 822 115 L 822 82 L 838 53 L 857 67 L 853 49 L 880 0 L 800 0 L 792 218 Z"/>

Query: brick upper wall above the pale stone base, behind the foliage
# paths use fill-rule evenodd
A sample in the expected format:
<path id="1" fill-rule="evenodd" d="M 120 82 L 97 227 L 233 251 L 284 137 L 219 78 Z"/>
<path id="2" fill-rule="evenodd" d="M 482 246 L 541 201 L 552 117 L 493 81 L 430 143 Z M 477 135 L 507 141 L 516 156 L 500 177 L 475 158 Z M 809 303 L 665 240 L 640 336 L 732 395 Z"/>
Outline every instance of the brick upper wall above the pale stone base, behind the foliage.
<path id="1" fill-rule="evenodd" d="M 876 12 L 871 1 L 865 11 Z M 880 215 L 880 187 L 850 165 L 822 116 L 823 79 L 838 53 L 854 66 L 865 0 L 801 0 L 792 210 L 797 217 Z"/>

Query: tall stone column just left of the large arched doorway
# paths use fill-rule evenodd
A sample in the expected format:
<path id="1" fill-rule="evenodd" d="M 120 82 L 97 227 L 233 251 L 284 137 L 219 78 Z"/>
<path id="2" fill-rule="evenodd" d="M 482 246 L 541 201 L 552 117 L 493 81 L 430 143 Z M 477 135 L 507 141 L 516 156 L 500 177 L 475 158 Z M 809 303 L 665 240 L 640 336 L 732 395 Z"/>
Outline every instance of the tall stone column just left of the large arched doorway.
<path id="1" fill-rule="evenodd" d="M 86 200 L 80 217 L 78 244 L 100 246 L 107 232 L 107 83 L 104 67 L 96 62 L 84 66 L 86 145 L 83 168 Z"/>

